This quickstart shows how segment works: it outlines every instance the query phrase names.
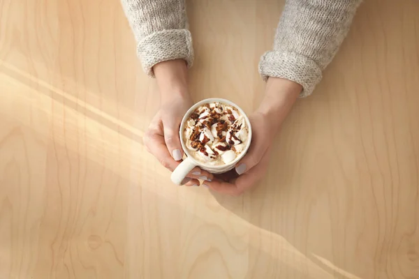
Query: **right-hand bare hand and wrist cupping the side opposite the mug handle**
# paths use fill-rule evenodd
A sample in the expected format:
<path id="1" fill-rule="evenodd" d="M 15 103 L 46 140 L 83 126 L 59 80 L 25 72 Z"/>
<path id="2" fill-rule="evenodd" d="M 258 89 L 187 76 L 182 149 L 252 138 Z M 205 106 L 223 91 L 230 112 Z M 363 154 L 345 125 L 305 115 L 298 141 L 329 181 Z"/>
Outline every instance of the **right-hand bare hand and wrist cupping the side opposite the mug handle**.
<path id="1" fill-rule="evenodd" d="M 205 181 L 204 185 L 216 192 L 237 196 L 263 179 L 274 136 L 291 111 L 301 89 L 300 84 L 290 80 L 270 77 L 263 102 L 249 116 L 253 135 L 246 156 L 237 163 L 235 170 L 216 175 L 212 182 Z"/>

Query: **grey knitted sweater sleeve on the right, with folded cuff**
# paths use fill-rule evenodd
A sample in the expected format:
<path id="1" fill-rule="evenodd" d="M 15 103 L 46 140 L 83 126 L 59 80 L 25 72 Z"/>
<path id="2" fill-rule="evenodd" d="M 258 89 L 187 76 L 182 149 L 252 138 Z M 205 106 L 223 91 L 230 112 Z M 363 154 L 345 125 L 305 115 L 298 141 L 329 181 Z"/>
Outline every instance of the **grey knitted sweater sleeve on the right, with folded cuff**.
<path id="1" fill-rule="evenodd" d="M 335 56 L 351 25 L 360 0 L 287 0 L 274 47 L 259 64 L 267 77 L 282 77 L 302 84 L 308 96 L 322 71 Z"/>

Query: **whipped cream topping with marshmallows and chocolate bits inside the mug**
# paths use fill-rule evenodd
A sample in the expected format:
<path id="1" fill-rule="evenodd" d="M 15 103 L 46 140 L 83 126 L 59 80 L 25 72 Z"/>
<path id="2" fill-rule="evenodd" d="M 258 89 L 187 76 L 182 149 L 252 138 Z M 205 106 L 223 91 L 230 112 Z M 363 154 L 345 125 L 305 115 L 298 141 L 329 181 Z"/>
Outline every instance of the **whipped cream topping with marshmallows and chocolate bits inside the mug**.
<path id="1" fill-rule="evenodd" d="M 248 134 L 246 120 L 235 107 L 209 103 L 198 107 L 186 120 L 183 140 L 196 160 L 223 165 L 244 151 Z"/>

